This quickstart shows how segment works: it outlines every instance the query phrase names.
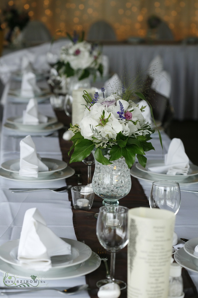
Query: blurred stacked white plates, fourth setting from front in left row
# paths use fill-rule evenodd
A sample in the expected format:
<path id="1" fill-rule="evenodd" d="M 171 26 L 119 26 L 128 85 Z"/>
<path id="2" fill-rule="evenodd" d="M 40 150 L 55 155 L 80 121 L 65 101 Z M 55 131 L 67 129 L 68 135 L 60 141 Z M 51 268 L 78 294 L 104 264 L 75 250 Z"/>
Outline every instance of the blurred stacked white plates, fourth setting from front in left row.
<path id="1" fill-rule="evenodd" d="M 34 94 L 34 98 L 37 99 L 39 103 L 50 98 L 51 92 L 49 89 L 41 89 L 39 92 Z M 20 89 L 9 89 L 8 92 L 9 101 L 14 101 L 17 103 L 28 103 L 31 96 L 21 96 Z"/>

